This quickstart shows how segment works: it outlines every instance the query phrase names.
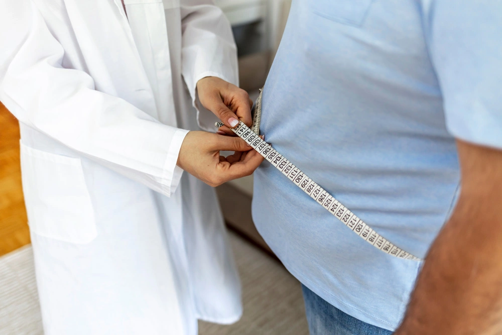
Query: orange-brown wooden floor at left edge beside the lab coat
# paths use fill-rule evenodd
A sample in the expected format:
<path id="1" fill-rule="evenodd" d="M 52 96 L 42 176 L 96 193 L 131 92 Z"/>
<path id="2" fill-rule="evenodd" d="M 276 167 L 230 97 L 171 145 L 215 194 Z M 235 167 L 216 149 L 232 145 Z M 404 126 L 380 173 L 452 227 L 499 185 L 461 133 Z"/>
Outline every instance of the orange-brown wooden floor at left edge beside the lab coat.
<path id="1" fill-rule="evenodd" d="M 18 121 L 0 103 L 0 256 L 30 243 L 27 222 Z"/>

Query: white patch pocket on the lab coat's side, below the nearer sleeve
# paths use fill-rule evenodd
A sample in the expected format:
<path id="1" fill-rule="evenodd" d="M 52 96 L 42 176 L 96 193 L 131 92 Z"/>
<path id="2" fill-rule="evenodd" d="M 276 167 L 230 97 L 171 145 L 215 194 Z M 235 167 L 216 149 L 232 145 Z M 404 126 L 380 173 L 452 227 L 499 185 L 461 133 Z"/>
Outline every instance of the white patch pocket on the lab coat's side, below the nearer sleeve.
<path id="1" fill-rule="evenodd" d="M 79 158 L 21 143 L 21 170 L 32 233 L 75 244 L 96 238 L 94 210 Z"/>

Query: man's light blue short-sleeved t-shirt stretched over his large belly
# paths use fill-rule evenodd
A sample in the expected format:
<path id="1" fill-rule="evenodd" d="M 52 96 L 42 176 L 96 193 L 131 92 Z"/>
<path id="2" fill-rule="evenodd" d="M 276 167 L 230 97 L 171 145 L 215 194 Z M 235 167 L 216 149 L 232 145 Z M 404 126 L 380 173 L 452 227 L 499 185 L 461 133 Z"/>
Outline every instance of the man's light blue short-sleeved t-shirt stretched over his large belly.
<path id="1" fill-rule="evenodd" d="M 458 193 L 455 138 L 502 147 L 501 13 L 493 0 L 294 0 L 261 133 L 423 258 Z M 268 162 L 254 194 L 257 228 L 294 276 L 362 321 L 397 327 L 418 262 L 362 241 Z"/>

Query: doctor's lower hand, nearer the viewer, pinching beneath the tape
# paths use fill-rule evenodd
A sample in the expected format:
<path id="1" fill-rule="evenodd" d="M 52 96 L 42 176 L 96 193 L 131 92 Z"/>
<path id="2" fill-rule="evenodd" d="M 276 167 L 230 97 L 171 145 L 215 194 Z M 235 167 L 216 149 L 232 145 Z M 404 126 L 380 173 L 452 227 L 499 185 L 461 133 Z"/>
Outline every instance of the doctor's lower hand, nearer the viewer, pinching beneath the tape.
<path id="1" fill-rule="evenodd" d="M 220 150 L 235 154 L 225 158 Z M 183 140 L 177 165 L 214 187 L 252 174 L 263 159 L 239 137 L 191 131 Z"/>

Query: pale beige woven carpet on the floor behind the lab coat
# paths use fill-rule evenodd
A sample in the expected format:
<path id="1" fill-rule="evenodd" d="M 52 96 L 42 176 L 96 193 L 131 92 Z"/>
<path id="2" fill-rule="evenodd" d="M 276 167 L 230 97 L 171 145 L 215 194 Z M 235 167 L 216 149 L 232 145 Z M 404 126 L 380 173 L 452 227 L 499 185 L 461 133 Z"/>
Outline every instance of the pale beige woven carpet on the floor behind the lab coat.
<path id="1" fill-rule="evenodd" d="M 199 322 L 199 335 L 307 335 L 300 283 L 238 235 L 230 241 L 244 314 L 232 325 Z M 0 258 L 0 335 L 43 335 L 30 245 Z"/>

